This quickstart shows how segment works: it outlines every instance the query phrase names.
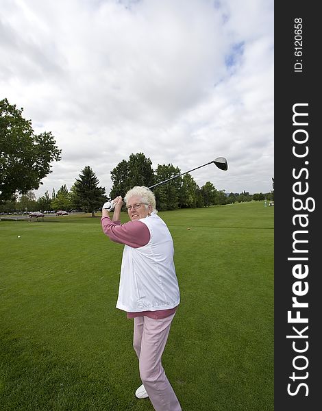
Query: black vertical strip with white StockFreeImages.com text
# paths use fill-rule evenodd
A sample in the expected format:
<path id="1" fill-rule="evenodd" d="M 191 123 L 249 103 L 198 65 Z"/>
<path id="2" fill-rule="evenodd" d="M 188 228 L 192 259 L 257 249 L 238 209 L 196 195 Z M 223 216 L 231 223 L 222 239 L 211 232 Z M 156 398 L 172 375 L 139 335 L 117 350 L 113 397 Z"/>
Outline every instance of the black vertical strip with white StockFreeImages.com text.
<path id="1" fill-rule="evenodd" d="M 275 3 L 275 406 L 319 403 L 320 121 L 314 3 Z"/>

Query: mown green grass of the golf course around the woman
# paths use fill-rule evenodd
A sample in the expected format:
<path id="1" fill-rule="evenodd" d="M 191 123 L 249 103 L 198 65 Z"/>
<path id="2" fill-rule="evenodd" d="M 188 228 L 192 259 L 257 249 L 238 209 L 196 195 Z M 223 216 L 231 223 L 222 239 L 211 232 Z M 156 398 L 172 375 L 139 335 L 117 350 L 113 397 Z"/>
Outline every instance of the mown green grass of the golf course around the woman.
<path id="1" fill-rule="evenodd" d="M 273 411 L 273 208 L 159 215 L 182 299 L 163 364 L 182 410 Z M 153 410 L 115 308 L 122 251 L 99 218 L 0 222 L 1 411 Z"/>

